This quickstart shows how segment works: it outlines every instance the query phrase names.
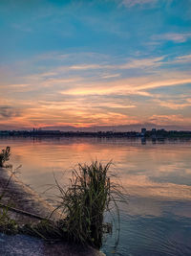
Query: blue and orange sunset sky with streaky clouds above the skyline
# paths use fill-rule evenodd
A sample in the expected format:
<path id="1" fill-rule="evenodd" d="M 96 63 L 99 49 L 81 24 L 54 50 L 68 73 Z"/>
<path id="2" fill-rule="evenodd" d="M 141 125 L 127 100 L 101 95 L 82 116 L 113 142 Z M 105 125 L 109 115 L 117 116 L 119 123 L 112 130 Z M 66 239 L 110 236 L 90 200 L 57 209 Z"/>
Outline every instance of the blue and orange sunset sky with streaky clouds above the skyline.
<path id="1" fill-rule="evenodd" d="M 191 0 L 1 0 L 0 129 L 191 129 Z"/>

